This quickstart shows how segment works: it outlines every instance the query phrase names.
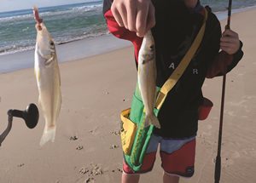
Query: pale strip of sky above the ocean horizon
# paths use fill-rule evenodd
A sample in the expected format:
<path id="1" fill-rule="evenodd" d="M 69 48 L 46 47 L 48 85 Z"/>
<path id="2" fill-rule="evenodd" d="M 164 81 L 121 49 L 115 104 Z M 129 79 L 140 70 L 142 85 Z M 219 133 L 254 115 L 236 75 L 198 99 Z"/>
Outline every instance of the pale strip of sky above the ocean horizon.
<path id="1" fill-rule="evenodd" d="M 0 12 L 18 9 L 32 9 L 38 7 L 55 6 L 68 3 L 84 3 L 96 0 L 0 0 Z"/>

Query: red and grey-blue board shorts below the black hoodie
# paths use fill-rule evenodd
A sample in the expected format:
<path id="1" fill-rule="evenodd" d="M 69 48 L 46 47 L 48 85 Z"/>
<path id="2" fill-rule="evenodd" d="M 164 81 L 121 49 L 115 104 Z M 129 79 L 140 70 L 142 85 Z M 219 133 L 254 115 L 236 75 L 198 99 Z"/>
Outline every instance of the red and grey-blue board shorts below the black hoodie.
<path id="1" fill-rule="evenodd" d="M 142 169 L 134 172 L 127 163 L 123 163 L 126 174 L 143 174 L 151 171 L 154 166 L 155 155 L 160 144 L 160 157 L 162 168 L 167 174 L 191 177 L 194 174 L 195 163 L 195 137 L 183 140 L 166 139 L 152 135 Z"/>

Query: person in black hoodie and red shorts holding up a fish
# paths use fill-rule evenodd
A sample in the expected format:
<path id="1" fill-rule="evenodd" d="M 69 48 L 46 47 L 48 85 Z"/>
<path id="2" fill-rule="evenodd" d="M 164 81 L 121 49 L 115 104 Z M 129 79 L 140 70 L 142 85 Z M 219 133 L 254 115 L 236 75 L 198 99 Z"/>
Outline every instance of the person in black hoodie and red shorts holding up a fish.
<path id="1" fill-rule="evenodd" d="M 155 74 L 155 85 L 162 87 L 189 50 L 207 14 L 199 49 L 191 58 L 183 76 L 167 94 L 158 119 L 151 120 L 152 123 L 148 121 L 156 128 L 145 155 L 147 162 L 136 172 L 124 161 L 122 182 L 136 183 L 139 181 L 139 174 L 149 172 L 154 166 L 159 145 L 161 166 L 164 169 L 163 182 L 177 183 L 179 177 L 191 177 L 195 172 L 198 112 L 204 99 L 201 87 L 205 78 L 222 76 L 241 60 L 242 43 L 238 34 L 230 29 L 221 33 L 216 15 L 209 7 L 202 7 L 198 0 L 104 0 L 103 14 L 109 31 L 115 37 L 129 40 L 134 45 L 136 65 L 139 68 L 138 84 L 142 93 L 142 88 L 147 88 L 143 86 L 143 82 L 150 82 L 141 79 L 143 82 L 140 84 L 139 81 L 140 65 L 147 64 L 146 54 L 139 54 L 143 52 L 140 49 L 154 49 L 155 63 L 151 63 L 154 63 L 156 72 L 152 69 L 150 75 Z M 143 42 L 147 37 L 150 39 L 150 30 L 154 43 L 145 47 L 146 42 Z M 152 80 L 154 77 L 150 81 Z"/>

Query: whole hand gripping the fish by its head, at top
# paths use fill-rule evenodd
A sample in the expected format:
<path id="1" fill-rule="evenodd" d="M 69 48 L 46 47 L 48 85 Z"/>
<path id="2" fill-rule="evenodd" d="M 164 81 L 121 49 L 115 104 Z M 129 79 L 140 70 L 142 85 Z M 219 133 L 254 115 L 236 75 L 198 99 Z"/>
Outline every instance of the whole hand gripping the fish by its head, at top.
<path id="1" fill-rule="evenodd" d="M 138 37 L 143 37 L 155 25 L 151 0 L 113 0 L 111 11 L 119 26 L 136 31 Z"/>

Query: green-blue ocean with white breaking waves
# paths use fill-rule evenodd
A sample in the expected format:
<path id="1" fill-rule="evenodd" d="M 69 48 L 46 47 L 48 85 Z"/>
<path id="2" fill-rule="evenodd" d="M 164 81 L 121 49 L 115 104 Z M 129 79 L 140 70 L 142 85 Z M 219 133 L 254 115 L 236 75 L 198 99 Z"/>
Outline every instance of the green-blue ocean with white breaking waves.
<path id="1" fill-rule="evenodd" d="M 228 0 L 201 0 L 214 12 L 224 11 Z M 256 5 L 256 0 L 233 0 L 233 9 Z M 108 34 L 102 0 L 39 8 L 55 43 L 69 43 Z M 0 12 L 0 56 L 33 49 L 36 40 L 32 9 Z"/>

